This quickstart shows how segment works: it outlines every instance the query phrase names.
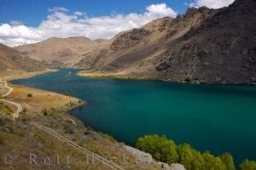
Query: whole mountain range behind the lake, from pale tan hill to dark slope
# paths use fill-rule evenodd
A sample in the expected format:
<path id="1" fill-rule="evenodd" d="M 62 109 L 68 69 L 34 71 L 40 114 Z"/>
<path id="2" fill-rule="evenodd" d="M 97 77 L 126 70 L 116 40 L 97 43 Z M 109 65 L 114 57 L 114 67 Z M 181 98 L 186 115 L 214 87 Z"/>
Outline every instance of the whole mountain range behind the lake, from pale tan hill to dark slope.
<path id="1" fill-rule="evenodd" d="M 111 40 L 51 38 L 15 49 L 53 68 L 174 82 L 256 83 L 256 1 L 189 8 Z"/>

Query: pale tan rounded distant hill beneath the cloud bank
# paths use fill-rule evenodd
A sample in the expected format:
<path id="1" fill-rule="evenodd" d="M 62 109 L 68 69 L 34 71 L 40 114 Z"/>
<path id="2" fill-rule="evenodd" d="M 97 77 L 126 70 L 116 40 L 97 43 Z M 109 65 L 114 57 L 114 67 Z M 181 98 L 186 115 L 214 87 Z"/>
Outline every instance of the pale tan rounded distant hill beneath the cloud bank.
<path id="1" fill-rule="evenodd" d="M 84 51 L 96 44 L 98 41 L 86 37 L 54 37 L 36 44 L 18 46 L 17 50 L 31 59 L 47 62 L 51 67 L 72 67 L 80 60 Z"/>

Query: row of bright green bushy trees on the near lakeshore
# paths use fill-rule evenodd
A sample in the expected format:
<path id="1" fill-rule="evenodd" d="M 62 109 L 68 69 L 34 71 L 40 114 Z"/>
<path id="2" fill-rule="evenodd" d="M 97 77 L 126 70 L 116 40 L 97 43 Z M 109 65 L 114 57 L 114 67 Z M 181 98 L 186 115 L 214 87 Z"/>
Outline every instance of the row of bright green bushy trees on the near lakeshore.
<path id="1" fill-rule="evenodd" d="M 189 144 L 175 144 L 164 135 L 145 135 L 137 139 L 136 147 L 164 163 L 181 163 L 187 170 L 235 170 L 233 156 L 224 153 L 218 157 L 206 151 L 201 153 Z M 239 170 L 256 170 L 256 161 L 244 160 Z"/>

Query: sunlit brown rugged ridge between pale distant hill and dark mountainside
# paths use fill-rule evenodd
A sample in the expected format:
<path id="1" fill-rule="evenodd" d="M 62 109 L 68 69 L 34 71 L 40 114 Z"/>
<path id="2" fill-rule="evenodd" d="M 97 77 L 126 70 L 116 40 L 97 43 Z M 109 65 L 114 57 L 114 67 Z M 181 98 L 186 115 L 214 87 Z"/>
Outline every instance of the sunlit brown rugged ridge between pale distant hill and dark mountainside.
<path id="1" fill-rule="evenodd" d="M 77 65 L 103 72 L 132 70 L 141 65 L 141 62 L 163 53 L 167 49 L 168 42 L 183 36 L 192 26 L 199 26 L 213 13 L 214 11 L 210 9 L 193 8 L 184 16 L 175 19 L 165 17 L 152 21 L 140 29 L 121 32 L 109 40 L 105 48 L 90 54 L 89 60 L 84 58 Z"/>

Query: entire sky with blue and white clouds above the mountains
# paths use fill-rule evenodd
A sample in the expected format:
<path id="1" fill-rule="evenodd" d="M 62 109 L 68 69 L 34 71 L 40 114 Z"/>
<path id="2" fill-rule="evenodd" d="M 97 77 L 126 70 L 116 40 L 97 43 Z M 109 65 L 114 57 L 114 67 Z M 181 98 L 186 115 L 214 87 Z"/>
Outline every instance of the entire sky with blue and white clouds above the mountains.
<path id="1" fill-rule="evenodd" d="M 19 2 L 19 3 L 17 3 Z M 52 36 L 109 39 L 187 7 L 226 7 L 234 0 L 0 0 L 0 43 L 16 46 Z"/>

